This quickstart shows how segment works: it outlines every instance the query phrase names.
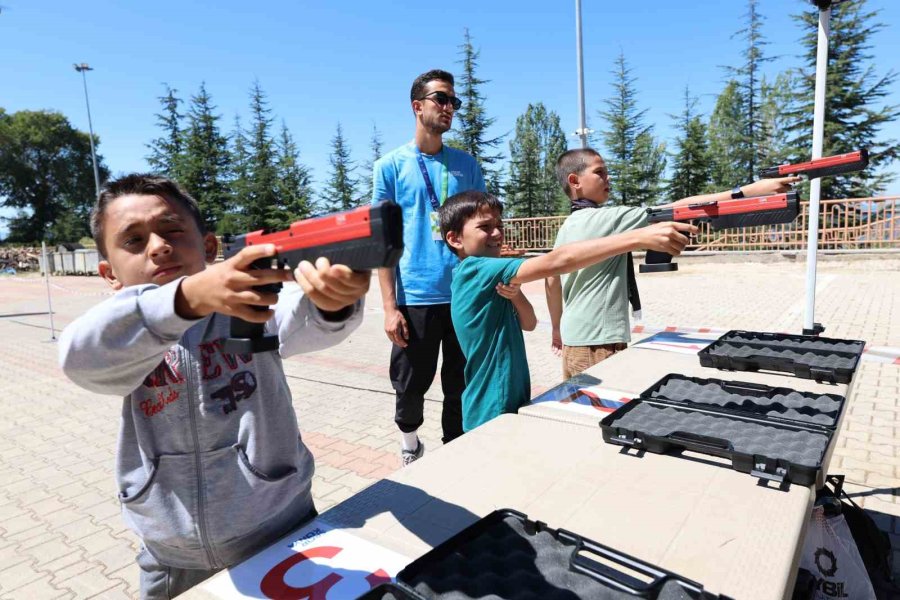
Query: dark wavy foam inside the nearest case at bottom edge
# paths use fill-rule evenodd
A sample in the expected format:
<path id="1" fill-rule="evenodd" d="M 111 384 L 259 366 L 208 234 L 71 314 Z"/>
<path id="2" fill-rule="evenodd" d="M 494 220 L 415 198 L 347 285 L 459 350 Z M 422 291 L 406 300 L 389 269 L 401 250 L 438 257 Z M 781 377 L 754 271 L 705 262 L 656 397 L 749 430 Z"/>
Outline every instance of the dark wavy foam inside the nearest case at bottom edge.
<path id="1" fill-rule="evenodd" d="M 638 596 L 569 570 L 575 546 L 546 531 L 529 534 L 522 522 L 506 517 L 449 556 L 430 565 L 407 585 L 426 598 L 441 600 L 634 600 Z M 589 555 L 588 555 L 589 556 Z M 599 565 L 599 563 L 598 563 Z M 604 568 L 604 565 L 599 565 Z M 697 596 L 667 581 L 658 600 Z"/>

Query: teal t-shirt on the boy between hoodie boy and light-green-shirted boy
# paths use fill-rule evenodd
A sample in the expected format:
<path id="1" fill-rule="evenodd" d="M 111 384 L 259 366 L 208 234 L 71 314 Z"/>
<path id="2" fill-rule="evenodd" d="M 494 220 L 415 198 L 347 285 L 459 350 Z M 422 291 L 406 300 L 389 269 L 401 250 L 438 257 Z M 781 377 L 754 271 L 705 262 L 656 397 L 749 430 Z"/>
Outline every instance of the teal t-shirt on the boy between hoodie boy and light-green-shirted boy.
<path id="1" fill-rule="evenodd" d="M 528 403 L 525 338 L 512 302 L 497 293 L 525 259 L 470 256 L 453 271 L 450 315 L 466 355 L 463 429 L 470 431 Z"/>

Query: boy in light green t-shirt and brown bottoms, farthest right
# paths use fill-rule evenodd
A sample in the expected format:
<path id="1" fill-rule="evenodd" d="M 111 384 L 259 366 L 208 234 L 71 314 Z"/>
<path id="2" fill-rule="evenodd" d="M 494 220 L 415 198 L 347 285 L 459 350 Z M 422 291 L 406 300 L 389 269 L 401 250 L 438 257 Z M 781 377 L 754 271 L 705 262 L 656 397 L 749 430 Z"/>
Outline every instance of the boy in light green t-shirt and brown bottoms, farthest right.
<path id="1" fill-rule="evenodd" d="M 556 176 L 572 201 L 572 215 L 556 237 L 565 244 L 633 231 L 647 225 L 647 209 L 604 206 L 609 199 L 609 172 L 596 150 L 564 152 L 556 161 Z M 762 179 L 729 192 L 691 196 L 665 206 L 765 196 L 788 191 L 799 177 Z M 628 261 L 621 253 L 545 282 L 553 327 L 552 346 L 563 357 L 563 378 L 624 350 L 631 341 L 628 318 Z"/>

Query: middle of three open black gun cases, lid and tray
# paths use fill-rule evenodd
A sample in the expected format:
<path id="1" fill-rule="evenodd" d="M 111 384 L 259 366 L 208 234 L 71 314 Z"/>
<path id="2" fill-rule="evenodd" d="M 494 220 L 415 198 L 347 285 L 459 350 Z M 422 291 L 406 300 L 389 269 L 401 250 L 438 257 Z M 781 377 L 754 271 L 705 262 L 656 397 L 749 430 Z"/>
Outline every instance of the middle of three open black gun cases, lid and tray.
<path id="1" fill-rule="evenodd" d="M 760 479 L 819 485 L 845 404 L 837 394 L 669 374 L 600 428 L 610 444 L 692 450 Z"/>

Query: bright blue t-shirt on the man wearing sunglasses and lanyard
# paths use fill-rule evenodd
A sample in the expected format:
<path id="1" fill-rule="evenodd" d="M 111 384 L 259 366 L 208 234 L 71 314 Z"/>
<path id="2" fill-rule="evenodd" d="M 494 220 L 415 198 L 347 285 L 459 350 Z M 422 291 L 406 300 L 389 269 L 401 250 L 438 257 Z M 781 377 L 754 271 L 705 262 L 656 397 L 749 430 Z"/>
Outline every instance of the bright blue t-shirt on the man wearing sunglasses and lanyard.
<path id="1" fill-rule="evenodd" d="M 485 191 L 478 162 L 462 150 L 444 144 L 436 155 L 422 154 L 438 202 L 459 192 Z M 447 198 L 442 193 L 447 172 Z M 450 302 L 450 279 L 459 264 L 443 240 L 432 237 L 433 208 L 425 179 L 410 142 L 375 161 L 372 203 L 393 200 L 403 209 L 403 256 L 397 265 L 397 304 Z"/>

